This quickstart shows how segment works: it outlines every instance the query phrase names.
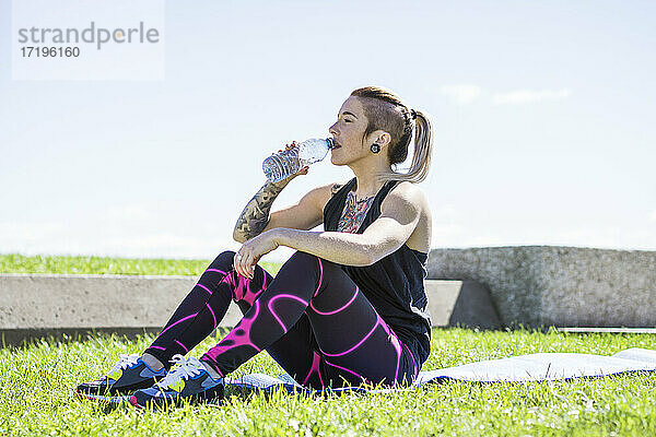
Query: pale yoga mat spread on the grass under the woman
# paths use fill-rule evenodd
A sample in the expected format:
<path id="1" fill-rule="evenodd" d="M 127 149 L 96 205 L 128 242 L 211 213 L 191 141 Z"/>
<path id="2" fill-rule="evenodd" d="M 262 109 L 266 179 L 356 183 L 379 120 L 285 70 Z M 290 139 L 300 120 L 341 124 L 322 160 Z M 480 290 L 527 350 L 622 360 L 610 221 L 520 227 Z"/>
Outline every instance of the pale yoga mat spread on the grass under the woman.
<path id="1" fill-rule="evenodd" d="M 656 370 L 656 351 L 632 347 L 614 355 L 593 355 L 572 353 L 541 353 L 490 359 L 447 367 L 438 370 L 421 371 L 412 386 L 415 389 L 429 382 L 460 380 L 471 382 L 527 382 L 553 381 L 573 378 L 602 377 L 631 371 Z M 336 389 L 313 390 L 296 383 L 284 374 L 272 377 L 263 374 L 245 375 L 239 378 L 225 378 L 227 386 L 246 389 L 270 390 L 282 387 L 289 391 L 301 392 L 340 392 L 375 391 L 388 392 L 394 389 L 367 390 L 364 387 L 342 387 Z"/>

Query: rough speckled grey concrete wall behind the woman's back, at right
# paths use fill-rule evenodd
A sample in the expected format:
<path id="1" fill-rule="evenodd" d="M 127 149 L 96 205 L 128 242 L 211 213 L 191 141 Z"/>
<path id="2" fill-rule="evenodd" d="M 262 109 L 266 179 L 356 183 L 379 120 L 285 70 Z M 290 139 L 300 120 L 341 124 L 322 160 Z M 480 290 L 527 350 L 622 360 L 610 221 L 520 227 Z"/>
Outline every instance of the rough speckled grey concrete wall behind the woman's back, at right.
<path id="1" fill-rule="evenodd" d="M 435 249 L 429 277 L 475 280 L 506 326 L 656 327 L 656 252 L 553 246 Z"/>

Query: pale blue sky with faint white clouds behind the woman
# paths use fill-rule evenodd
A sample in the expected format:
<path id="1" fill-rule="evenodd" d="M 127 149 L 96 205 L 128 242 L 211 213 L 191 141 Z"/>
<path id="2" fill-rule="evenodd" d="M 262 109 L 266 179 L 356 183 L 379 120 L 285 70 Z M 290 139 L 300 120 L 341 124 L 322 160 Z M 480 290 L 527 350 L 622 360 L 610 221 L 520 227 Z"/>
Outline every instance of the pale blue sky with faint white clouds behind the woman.
<path id="1" fill-rule="evenodd" d="M 13 81 L 10 7 L 1 253 L 236 249 L 261 161 L 370 84 L 434 117 L 434 248 L 656 250 L 652 1 L 169 1 L 153 82 Z M 351 177 L 319 163 L 273 209 Z"/>

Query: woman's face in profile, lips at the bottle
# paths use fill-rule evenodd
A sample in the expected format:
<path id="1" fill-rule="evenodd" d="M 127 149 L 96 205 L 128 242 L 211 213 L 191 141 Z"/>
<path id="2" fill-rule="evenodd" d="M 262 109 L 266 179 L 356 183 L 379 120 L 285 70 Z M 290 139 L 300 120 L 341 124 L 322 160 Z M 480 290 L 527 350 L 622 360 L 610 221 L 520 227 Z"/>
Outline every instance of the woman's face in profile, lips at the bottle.
<path id="1" fill-rule="evenodd" d="M 360 99 L 353 96 L 347 98 L 339 109 L 337 121 L 328 129 L 335 140 L 330 156 L 332 164 L 344 165 L 367 155 L 368 149 L 362 141 L 367 125 Z"/>

